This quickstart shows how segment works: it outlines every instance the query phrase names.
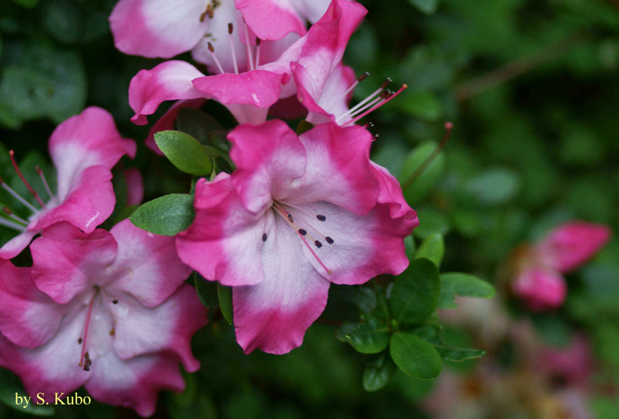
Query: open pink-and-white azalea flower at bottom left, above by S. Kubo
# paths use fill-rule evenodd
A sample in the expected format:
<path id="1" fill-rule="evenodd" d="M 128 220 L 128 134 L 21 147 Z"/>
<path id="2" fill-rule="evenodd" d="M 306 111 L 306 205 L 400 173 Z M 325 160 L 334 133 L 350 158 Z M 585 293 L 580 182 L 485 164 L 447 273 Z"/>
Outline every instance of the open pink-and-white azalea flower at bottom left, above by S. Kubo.
<path id="1" fill-rule="evenodd" d="M 53 402 L 85 385 L 149 416 L 159 390 L 184 388 L 178 361 L 198 369 L 190 339 L 206 316 L 172 238 L 129 220 L 109 233 L 61 222 L 31 251 L 31 270 L 0 260 L 0 365 L 30 395 Z"/>

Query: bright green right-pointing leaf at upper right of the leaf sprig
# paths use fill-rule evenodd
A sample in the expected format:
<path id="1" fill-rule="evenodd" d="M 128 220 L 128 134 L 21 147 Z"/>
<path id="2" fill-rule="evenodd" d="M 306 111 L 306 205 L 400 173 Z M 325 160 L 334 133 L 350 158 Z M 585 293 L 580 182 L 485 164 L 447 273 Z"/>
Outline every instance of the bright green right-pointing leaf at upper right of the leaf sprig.
<path id="1" fill-rule="evenodd" d="M 453 309 L 458 307 L 456 295 L 464 297 L 494 297 L 495 288 L 488 282 L 474 275 L 450 272 L 441 275 L 441 295 L 439 308 Z"/>

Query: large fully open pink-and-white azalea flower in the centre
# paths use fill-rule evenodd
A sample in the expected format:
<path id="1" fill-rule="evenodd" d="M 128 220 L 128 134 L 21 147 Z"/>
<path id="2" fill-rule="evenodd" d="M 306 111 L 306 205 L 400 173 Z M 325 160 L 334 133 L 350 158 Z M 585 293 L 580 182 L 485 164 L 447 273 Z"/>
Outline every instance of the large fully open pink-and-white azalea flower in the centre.
<path id="1" fill-rule="evenodd" d="M 196 184 L 196 219 L 180 258 L 233 286 L 246 353 L 286 353 L 320 316 L 330 282 L 363 284 L 408 265 L 418 225 L 398 181 L 369 159 L 372 135 L 322 124 L 300 137 L 281 121 L 242 125 L 228 139 L 237 170 Z"/>

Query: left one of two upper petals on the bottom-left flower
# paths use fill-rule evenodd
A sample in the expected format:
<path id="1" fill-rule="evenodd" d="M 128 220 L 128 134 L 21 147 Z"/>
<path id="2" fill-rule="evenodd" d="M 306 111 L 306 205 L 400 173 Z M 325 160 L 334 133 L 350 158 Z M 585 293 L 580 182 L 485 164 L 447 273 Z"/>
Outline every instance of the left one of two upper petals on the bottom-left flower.
<path id="1" fill-rule="evenodd" d="M 30 245 L 32 280 L 59 304 L 101 283 L 117 255 L 114 237 L 105 230 L 82 233 L 69 223 L 55 223 Z"/>

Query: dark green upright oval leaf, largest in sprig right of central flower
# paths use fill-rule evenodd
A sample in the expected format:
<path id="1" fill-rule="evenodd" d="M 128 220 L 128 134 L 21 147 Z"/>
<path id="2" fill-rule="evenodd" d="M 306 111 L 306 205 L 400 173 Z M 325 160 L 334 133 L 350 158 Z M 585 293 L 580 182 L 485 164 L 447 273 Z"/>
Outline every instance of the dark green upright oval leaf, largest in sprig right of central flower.
<path id="1" fill-rule="evenodd" d="M 434 263 L 416 259 L 395 278 L 391 288 L 391 312 L 399 325 L 414 325 L 435 311 L 440 279 Z"/>

